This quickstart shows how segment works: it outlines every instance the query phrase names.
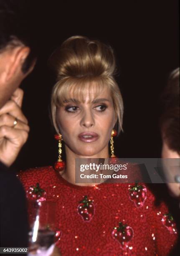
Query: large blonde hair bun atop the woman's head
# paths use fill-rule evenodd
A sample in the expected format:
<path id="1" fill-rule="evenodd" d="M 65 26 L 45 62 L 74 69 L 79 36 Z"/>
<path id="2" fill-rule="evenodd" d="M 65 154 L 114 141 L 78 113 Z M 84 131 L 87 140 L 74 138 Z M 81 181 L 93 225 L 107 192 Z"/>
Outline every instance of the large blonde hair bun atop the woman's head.
<path id="1" fill-rule="evenodd" d="M 85 36 L 72 36 L 51 55 L 50 67 L 57 80 L 63 77 L 106 77 L 115 70 L 115 59 L 110 46 L 91 41 Z"/>

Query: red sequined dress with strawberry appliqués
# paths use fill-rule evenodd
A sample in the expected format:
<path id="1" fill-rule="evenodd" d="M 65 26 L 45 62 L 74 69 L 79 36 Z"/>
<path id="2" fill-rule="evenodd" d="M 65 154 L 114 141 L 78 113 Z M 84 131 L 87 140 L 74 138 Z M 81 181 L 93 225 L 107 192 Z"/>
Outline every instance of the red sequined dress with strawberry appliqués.
<path id="1" fill-rule="evenodd" d="M 145 184 L 77 186 L 51 166 L 18 174 L 25 190 L 39 183 L 56 202 L 57 242 L 63 256 L 168 255 L 177 229 L 164 203 Z"/>

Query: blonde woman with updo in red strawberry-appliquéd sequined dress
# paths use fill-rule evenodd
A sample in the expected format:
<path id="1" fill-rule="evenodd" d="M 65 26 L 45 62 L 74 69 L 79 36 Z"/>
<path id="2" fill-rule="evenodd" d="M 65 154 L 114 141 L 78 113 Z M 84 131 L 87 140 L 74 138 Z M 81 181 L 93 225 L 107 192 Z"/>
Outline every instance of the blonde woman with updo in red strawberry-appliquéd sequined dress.
<path id="1" fill-rule="evenodd" d="M 19 176 L 26 190 L 39 183 L 47 200 L 57 202 L 62 255 L 168 255 L 177 239 L 175 223 L 163 202 L 155 205 L 146 184 L 75 181 L 75 161 L 115 157 L 123 101 L 112 48 L 74 36 L 53 52 L 50 65 L 56 72 L 51 110 L 59 158 Z"/>

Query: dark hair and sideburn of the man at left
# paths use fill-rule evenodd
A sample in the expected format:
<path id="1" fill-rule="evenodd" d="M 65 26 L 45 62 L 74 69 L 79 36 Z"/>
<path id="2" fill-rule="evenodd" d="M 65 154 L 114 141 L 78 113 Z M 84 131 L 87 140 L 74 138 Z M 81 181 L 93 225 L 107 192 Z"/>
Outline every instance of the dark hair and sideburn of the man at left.
<path id="1" fill-rule="evenodd" d="M 35 7 L 32 2 L 30 5 L 28 0 L 0 0 L 0 52 L 9 46 L 30 47 L 22 66 L 23 73 L 28 72 L 38 52 L 38 31 L 34 26 L 35 15 L 31 12 L 32 6 Z"/>

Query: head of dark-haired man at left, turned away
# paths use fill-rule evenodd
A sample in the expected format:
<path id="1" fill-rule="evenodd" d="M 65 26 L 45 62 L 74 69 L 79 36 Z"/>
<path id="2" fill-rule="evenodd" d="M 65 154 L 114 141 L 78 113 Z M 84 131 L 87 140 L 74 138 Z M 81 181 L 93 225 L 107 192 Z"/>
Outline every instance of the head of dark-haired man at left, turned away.
<path id="1" fill-rule="evenodd" d="M 34 67 L 31 25 L 27 1 L 0 0 L 0 108 Z"/>

